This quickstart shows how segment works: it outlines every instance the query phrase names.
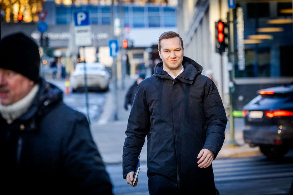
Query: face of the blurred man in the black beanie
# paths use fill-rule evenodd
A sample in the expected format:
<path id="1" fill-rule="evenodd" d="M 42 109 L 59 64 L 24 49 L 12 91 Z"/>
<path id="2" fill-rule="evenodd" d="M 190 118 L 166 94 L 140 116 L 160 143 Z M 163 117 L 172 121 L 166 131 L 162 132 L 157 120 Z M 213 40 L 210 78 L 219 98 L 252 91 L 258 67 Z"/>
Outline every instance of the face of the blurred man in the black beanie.
<path id="1" fill-rule="evenodd" d="M 23 99 L 33 88 L 34 82 L 27 77 L 0 68 L 0 104 L 11 105 Z"/>

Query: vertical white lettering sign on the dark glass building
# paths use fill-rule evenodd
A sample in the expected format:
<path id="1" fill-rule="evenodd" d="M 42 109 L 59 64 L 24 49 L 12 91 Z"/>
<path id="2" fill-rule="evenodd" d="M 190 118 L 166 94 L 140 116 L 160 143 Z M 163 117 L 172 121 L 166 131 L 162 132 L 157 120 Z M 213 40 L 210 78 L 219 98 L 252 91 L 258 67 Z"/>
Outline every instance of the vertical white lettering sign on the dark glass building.
<path id="1" fill-rule="evenodd" d="M 245 48 L 244 48 L 244 20 L 243 9 L 236 9 L 237 17 L 237 55 L 238 55 L 238 70 L 245 70 Z"/>

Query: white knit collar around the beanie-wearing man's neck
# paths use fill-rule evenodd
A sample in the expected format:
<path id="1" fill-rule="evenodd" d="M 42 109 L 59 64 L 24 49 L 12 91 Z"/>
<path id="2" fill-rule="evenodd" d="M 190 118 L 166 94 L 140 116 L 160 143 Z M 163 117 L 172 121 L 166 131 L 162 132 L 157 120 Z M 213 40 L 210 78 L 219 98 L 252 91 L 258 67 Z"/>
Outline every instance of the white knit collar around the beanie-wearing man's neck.
<path id="1" fill-rule="evenodd" d="M 7 121 L 8 124 L 11 124 L 15 119 L 28 111 L 28 108 L 32 105 L 38 91 L 39 84 L 35 84 L 33 89 L 30 90 L 30 92 L 23 99 L 7 106 L 0 104 L 1 116 Z"/>

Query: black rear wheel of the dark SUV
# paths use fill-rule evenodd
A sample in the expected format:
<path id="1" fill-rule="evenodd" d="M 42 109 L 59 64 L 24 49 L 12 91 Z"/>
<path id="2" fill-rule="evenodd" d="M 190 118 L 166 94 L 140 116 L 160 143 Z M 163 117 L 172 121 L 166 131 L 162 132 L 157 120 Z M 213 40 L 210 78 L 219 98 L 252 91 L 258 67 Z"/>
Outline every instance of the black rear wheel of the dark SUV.
<path id="1" fill-rule="evenodd" d="M 268 158 L 280 158 L 289 151 L 289 148 L 286 148 L 285 146 L 262 145 L 259 147 L 260 151 Z"/>

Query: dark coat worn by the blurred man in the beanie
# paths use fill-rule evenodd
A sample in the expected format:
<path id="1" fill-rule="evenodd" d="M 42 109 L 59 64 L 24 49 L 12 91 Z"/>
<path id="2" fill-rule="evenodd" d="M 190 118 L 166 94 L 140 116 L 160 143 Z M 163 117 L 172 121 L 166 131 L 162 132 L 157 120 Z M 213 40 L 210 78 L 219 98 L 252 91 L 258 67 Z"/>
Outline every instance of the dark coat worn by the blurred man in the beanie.
<path id="1" fill-rule="evenodd" d="M 112 194 L 86 117 L 57 87 L 40 79 L 29 110 L 10 125 L 0 115 L 0 126 L 1 192 Z"/>

